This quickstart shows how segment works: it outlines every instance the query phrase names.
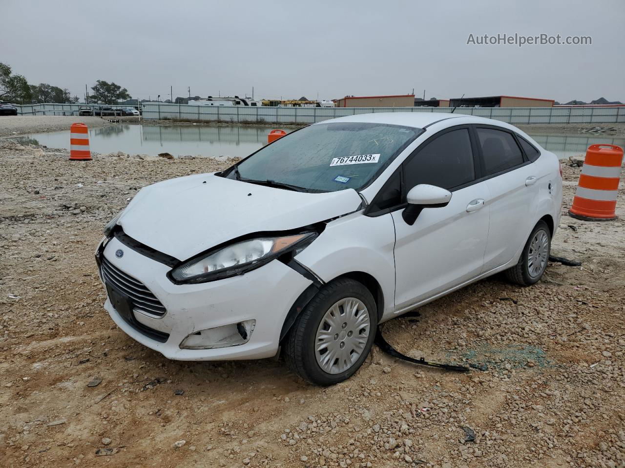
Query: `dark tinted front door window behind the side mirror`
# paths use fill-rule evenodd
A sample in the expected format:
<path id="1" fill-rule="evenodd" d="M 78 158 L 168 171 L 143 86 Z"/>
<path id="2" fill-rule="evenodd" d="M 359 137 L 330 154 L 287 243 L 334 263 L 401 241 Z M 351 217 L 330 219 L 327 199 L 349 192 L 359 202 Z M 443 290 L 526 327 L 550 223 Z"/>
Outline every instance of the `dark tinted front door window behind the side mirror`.
<path id="1" fill-rule="evenodd" d="M 404 163 L 406 190 L 428 183 L 449 190 L 475 179 L 469 129 L 446 132 Z"/>

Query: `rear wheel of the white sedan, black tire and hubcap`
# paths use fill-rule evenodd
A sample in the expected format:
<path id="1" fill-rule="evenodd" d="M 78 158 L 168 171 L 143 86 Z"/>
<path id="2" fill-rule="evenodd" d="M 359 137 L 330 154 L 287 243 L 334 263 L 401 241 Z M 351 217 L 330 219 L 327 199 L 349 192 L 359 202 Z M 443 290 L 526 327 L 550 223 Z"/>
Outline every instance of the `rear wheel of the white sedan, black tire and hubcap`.
<path id="1" fill-rule="evenodd" d="M 532 241 L 537 241 L 538 251 L 532 256 L 533 261 L 530 261 L 530 251 L 536 248 L 532 246 Z M 536 245 L 536 244 L 534 244 Z M 546 247 L 546 248 L 545 248 Z M 546 252 L 545 252 L 546 250 Z M 511 283 L 521 286 L 535 285 L 541 280 L 542 275 L 547 269 L 547 261 L 549 260 L 549 253 L 551 252 L 551 232 L 547 223 L 539 221 L 532 233 L 527 238 L 527 242 L 521 252 L 521 258 L 516 265 L 512 268 L 508 268 L 504 274 L 506 279 Z M 539 265 L 536 262 L 539 261 Z"/>

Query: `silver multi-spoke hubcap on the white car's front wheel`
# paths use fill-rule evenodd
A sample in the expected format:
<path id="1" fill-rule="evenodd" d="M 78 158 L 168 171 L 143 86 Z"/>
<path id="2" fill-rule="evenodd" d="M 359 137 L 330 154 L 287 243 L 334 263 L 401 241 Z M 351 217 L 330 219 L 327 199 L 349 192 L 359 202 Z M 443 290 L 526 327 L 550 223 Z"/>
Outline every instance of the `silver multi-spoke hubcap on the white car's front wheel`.
<path id="1" fill-rule="evenodd" d="M 351 368 L 364 351 L 369 328 L 369 312 L 362 301 L 345 298 L 329 308 L 315 339 L 315 356 L 321 369 L 339 374 Z"/>

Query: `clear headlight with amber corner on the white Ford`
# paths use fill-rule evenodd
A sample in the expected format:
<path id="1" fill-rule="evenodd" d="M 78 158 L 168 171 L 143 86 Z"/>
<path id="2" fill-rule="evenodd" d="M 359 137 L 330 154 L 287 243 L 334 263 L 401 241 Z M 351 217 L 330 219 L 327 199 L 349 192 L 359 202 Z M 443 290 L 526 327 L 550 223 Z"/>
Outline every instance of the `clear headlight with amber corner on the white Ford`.
<path id="1" fill-rule="evenodd" d="M 210 251 L 198 258 L 183 263 L 171 271 L 171 279 L 176 283 L 206 283 L 228 276 L 242 275 L 273 260 L 289 251 L 299 251 L 317 233 L 259 237 Z"/>

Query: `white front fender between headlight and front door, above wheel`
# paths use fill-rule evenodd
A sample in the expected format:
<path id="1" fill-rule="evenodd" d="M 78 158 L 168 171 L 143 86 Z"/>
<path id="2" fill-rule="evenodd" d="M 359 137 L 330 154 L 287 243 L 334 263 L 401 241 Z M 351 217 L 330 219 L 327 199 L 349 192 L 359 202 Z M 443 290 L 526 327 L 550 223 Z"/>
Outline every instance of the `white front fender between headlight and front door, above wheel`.
<path id="1" fill-rule="evenodd" d="M 346 273 L 362 272 L 382 290 L 382 316 L 392 313 L 395 295 L 395 227 L 390 213 L 367 217 L 362 211 L 329 222 L 296 260 L 328 283 Z"/>

